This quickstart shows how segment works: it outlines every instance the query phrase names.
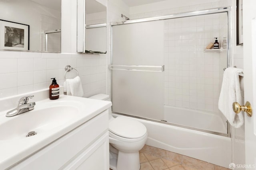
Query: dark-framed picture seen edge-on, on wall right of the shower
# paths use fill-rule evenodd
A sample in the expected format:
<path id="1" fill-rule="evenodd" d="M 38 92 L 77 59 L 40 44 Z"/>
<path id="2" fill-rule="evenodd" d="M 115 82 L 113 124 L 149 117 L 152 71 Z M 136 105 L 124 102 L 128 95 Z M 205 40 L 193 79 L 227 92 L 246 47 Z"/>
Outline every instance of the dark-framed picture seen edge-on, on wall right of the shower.
<path id="1" fill-rule="evenodd" d="M 236 0 L 236 45 L 243 42 L 243 0 Z"/>

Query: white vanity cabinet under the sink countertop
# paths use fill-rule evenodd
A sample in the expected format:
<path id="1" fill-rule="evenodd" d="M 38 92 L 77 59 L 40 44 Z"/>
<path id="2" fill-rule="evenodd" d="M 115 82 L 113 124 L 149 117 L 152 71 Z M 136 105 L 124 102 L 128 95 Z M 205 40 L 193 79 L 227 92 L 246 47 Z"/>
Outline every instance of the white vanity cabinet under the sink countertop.
<path id="1" fill-rule="evenodd" d="M 31 154 L 12 170 L 109 170 L 108 109 Z"/>

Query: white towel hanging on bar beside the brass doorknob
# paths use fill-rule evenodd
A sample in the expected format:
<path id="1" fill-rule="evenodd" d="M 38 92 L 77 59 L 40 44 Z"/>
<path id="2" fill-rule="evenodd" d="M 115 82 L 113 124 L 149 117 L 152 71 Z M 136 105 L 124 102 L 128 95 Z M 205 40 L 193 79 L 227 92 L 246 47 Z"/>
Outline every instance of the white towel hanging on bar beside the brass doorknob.
<path id="1" fill-rule="evenodd" d="M 226 68 L 223 75 L 222 87 L 219 98 L 219 109 L 228 119 L 230 125 L 239 128 L 244 123 L 242 113 L 236 114 L 233 111 L 233 102 L 241 104 L 242 96 L 240 90 L 239 73 L 243 70 L 241 68 L 229 67 Z"/>

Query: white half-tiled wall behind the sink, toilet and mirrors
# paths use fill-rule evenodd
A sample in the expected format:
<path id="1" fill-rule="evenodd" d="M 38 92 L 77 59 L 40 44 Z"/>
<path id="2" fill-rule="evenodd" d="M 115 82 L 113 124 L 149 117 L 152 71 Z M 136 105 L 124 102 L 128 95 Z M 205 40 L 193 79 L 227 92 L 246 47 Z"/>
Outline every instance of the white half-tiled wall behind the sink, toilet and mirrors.
<path id="1" fill-rule="evenodd" d="M 62 0 L 62 53 L 32 53 L 0 51 L 0 98 L 48 88 L 50 78 L 56 77 L 58 84 L 64 82 L 64 67 L 76 68 L 82 79 L 85 96 L 110 92 L 109 57 L 110 31 L 107 35 L 107 54 L 88 55 L 76 53 L 76 3 Z M 107 23 L 122 20 L 121 14 L 128 14 L 129 8 L 120 0 L 101 2 L 108 6 Z M 29 18 L 29 17 L 28 17 Z M 67 78 L 76 76 L 75 70 Z M 107 82 L 107 83 L 106 83 Z M 106 87 L 107 84 L 107 87 Z M 106 90 L 107 89 L 107 90 Z"/>

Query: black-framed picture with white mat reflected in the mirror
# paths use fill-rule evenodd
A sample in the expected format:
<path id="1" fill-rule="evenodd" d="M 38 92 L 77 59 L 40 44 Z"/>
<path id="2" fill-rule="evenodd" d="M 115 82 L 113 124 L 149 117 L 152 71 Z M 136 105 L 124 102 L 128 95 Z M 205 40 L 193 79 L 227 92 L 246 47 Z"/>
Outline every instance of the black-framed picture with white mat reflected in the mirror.
<path id="1" fill-rule="evenodd" d="M 0 49 L 29 50 L 29 25 L 0 20 Z"/>

